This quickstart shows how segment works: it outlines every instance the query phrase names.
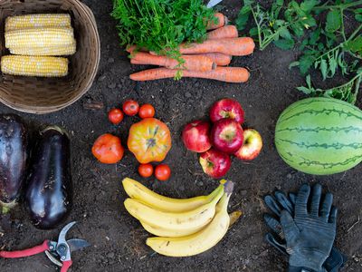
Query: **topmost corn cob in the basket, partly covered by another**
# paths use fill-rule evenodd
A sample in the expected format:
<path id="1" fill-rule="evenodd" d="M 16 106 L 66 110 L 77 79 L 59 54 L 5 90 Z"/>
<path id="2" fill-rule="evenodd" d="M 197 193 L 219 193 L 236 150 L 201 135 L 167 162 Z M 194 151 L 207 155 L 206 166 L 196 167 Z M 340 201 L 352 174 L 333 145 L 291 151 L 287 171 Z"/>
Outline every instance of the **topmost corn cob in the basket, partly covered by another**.
<path id="1" fill-rule="evenodd" d="M 71 27 L 71 16 L 61 15 L 18 15 L 7 17 L 5 32 L 34 27 Z"/>

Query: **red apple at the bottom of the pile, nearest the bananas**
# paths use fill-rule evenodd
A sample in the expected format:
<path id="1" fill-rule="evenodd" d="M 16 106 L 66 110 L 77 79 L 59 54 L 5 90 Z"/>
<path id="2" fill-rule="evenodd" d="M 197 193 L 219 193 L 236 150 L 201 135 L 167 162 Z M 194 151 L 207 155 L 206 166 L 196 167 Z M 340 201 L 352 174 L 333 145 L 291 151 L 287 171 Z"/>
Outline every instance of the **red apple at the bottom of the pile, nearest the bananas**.
<path id="1" fill-rule="evenodd" d="M 232 164 L 228 154 L 214 149 L 202 153 L 199 161 L 204 172 L 214 179 L 223 177 Z"/>

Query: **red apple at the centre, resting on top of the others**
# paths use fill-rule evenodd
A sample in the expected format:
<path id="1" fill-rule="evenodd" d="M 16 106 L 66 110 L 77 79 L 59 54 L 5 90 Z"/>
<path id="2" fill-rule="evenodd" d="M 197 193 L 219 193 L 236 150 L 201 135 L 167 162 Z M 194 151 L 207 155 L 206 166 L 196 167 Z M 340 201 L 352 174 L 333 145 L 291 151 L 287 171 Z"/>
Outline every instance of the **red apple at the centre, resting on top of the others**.
<path id="1" fill-rule="evenodd" d="M 243 145 L 242 126 L 233 119 L 216 121 L 211 130 L 211 141 L 215 149 L 233 154 Z"/>

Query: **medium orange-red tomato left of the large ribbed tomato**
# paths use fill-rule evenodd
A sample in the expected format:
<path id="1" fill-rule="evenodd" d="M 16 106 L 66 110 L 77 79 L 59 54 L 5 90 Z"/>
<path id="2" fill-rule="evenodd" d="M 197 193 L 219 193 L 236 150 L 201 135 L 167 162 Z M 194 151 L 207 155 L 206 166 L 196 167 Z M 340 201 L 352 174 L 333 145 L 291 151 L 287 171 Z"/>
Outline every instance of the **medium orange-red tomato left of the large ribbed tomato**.
<path id="1" fill-rule="evenodd" d="M 124 148 L 119 137 L 106 133 L 94 142 L 91 152 L 102 163 L 116 163 L 122 159 Z"/>

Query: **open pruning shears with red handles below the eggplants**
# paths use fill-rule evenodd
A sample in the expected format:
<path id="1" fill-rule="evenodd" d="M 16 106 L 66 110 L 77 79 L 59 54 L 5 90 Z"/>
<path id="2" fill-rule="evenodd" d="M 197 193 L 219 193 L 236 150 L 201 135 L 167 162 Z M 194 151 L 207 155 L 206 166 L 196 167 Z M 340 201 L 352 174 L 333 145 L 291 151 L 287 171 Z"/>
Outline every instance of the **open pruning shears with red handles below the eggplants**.
<path id="1" fill-rule="evenodd" d="M 90 244 L 83 239 L 72 238 L 66 240 L 68 230 L 75 224 L 73 221 L 62 228 L 61 233 L 57 242 L 51 240 L 44 240 L 42 245 L 17 250 L 17 251 L 0 251 L 0 257 L 5 258 L 15 258 L 15 257 L 29 257 L 39 253 L 44 252 L 45 255 L 54 263 L 55 265 L 62 267 L 61 272 L 68 271 L 68 268 L 71 267 L 71 252 L 79 250 L 81 248 L 89 247 Z"/>

